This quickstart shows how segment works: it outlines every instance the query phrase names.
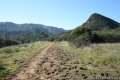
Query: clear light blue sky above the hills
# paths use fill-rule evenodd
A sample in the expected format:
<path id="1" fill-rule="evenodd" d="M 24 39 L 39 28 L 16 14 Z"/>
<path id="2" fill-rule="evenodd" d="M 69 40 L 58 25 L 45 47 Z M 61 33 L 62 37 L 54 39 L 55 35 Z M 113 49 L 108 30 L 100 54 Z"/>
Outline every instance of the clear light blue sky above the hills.
<path id="1" fill-rule="evenodd" d="M 0 22 L 73 29 L 93 13 L 120 22 L 120 0 L 0 0 Z"/>

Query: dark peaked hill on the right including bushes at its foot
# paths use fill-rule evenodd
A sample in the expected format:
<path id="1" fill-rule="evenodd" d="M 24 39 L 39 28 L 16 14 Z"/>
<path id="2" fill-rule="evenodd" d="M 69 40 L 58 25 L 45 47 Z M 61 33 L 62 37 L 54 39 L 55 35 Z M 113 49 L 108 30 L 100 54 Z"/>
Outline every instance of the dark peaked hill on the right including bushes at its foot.
<path id="1" fill-rule="evenodd" d="M 52 39 L 68 40 L 76 45 L 91 42 L 120 42 L 120 24 L 101 14 L 94 13 L 81 26 Z"/>

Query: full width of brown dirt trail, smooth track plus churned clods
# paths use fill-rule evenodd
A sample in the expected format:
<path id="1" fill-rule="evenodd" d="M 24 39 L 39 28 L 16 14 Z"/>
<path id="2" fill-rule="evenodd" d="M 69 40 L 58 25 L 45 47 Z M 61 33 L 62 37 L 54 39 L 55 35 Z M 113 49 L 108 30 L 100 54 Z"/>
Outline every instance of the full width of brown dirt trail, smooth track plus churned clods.
<path id="1" fill-rule="evenodd" d="M 52 43 L 11 80 L 80 80 L 79 61 Z"/>

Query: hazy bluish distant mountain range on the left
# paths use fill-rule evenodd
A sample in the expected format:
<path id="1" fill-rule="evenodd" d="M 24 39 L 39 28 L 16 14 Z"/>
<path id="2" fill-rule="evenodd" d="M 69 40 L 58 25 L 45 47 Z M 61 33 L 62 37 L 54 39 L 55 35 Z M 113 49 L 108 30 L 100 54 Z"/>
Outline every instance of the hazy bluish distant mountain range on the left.
<path id="1" fill-rule="evenodd" d="M 45 40 L 50 36 L 63 33 L 65 30 L 42 24 L 16 24 L 0 22 L 0 38 L 14 40 L 19 43 Z"/>

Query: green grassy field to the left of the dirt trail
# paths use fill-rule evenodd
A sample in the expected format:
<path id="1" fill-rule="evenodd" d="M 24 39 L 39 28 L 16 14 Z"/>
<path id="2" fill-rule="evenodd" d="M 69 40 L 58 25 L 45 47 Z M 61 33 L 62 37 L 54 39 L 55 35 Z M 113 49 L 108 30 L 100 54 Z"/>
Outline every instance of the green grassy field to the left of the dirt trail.
<path id="1" fill-rule="evenodd" d="M 14 74 L 23 64 L 45 48 L 48 42 L 35 42 L 0 49 L 0 80 Z"/>

